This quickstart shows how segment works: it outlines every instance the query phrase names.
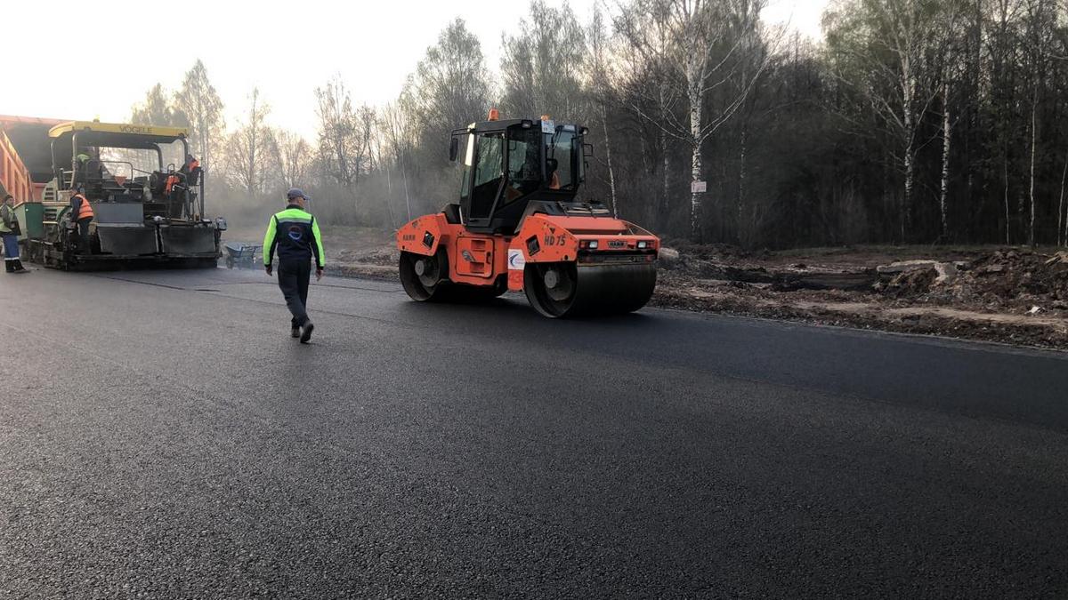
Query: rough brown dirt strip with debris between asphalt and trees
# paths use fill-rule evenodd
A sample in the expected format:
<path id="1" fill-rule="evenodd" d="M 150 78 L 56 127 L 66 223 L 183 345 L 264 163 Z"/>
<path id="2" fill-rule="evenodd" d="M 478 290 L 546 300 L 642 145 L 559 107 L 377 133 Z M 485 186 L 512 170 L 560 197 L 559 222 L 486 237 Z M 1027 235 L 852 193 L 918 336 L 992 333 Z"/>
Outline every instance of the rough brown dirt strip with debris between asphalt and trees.
<path id="1" fill-rule="evenodd" d="M 324 237 L 330 272 L 396 279 L 391 233 L 325 227 Z M 657 306 L 1068 349 L 1068 253 L 1055 250 L 673 243 L 660 266 Z"/>

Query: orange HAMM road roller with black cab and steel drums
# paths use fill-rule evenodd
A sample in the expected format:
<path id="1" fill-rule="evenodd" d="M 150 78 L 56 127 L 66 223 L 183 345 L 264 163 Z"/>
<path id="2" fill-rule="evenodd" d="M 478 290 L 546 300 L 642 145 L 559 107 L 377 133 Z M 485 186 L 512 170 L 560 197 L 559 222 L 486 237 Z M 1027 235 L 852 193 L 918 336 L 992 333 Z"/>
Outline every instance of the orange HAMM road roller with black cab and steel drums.
<path id="1" fill-rule="evenodd" d="M 452 132 L 462 153 L 459 202 L 397 231 L 399 275 L 419 302 L 476 302 L 522 291 L 550 318 L 629 313 L 657 283 L 660 239 L 579 200 L 588 130 L 548 116 Z"/>

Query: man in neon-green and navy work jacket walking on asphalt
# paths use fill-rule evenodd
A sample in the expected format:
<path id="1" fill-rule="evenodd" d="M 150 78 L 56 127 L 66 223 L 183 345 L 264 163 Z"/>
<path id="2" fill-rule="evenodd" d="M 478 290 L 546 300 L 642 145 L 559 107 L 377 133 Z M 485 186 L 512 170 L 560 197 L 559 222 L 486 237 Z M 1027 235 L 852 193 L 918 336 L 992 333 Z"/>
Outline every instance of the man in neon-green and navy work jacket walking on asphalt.
<path id="1" fill-rule="evenodd" d="M 273 272 L 271 260 L 278 250 L 278 286 L 282 288 L 285 303 L 293 314 L 293 336 L 301 344 L 312 338 L 315 326 L 308 318 L 308 284 L 312 278 L 312 258 L 315 258 L 315 281 L 323 279 L 323 236 L 319 225 L 308 210 L 304 192 L 294 188 L 286 193 L 285 210 L 276 214 L 267 224 L 264 236 L 264 268 Z"/>

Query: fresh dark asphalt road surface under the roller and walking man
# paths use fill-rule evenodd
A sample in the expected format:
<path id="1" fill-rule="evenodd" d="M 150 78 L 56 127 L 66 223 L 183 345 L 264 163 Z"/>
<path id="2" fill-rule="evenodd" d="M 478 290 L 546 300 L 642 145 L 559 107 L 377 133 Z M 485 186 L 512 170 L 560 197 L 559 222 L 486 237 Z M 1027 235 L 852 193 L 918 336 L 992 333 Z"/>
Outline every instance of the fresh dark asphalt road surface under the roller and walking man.
<path id="1" fill-rule="evenodd" d="M 1068 358 L 0 275 L 2 598 L 1065 598 Z"/>

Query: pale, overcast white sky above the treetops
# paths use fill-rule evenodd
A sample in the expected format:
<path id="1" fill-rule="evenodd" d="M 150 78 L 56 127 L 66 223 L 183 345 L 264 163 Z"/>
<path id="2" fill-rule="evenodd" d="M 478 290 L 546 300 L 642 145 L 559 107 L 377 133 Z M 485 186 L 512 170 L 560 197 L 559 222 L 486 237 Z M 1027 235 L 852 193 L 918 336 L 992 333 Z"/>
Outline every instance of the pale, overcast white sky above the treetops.
<path id="1" fill-rule="evenodd" d="M 596 2 L 604 0 L 570 5 L 586 21 Z M 314 89 L 334 74 L 357 104 L 393 100 L 426 47 L 457 16 L 481 37 L 496 70 L 502 32 L 515 31 L 529 7 L 517 0 L 4 4 L 0 114 L 123 122 L 153 84 L 176 89 L 200 58 L 226 105 L 227 125 L 258 86 L 272 109 L 269 122 L 309 139 L 315 135 Z M 765 19 L 819 37 L 826 4 L 769 0 Z"/>

